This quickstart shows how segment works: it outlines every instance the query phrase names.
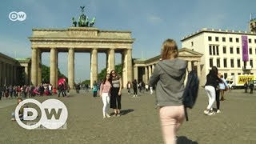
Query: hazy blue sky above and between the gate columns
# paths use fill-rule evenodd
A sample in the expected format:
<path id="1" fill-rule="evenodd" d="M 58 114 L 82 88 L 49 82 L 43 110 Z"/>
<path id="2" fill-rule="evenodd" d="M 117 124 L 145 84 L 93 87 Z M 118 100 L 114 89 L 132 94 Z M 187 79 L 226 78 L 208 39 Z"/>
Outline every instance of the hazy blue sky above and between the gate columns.
<path id="1" fill-rule="evenodd" d="M 12 58 L 31 57 L 28 37 L 33 28 L 66 29 L 71 18 L 85 6 L 89 18 L 96 18 L 100 30 L 130 30 L 133 58 L 152 58 L 160 54 L 166 38 L 180 40 L 202 28 L 248 30 L 256 1 L 244 0 L 5 0 L 0 6 L 0 52 Z M 12 11 L 26 13 L 24 21 L 10 21 Z M 106 54 L 98 54 L 98 72 L 105 68 Z M 50 65 L 50 53 L 42 54 Z M 116 64 L 121 54 L 116 54 Z M 58 67 L 67 76 L 67 53 L 58 54 Z M 90 54 L 75 53 L 75 82 L 90 78 Z"/>

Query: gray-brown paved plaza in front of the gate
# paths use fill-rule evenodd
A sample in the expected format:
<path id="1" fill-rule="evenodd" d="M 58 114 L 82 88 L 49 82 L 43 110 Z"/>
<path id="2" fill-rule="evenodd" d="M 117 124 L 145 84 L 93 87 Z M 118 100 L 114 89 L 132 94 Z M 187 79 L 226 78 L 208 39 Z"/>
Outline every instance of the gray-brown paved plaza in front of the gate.
<path id="1" fill-rule="evenodd" d="M 158 109 L 154 107 L 154 94 L 140 94 L 131 98 L 122 92 L 122 116 L 102 118 L 102 100 L 92 93 L 71 93 L 68 98 L 36 97 L 40 102 L 47 98 L 58 98 L 69 111 L 67 130 L 25 130 L 17 122 L 10 121 L 15 100 L 0 101 L 0 143 L 145 143 L 162 142 Z M 256 94 L 245 94 L 243 90 L 226 93 L 221 102 L 221 114 L 206 116 L 207 98 L 201 88 L 198 101 L 189 110 L 189 122 L 184 122 L 178 131 L 178 144 L 253 144 L 256 143 Z M 214 104 L 215 105 L 215 104 Z M 112 112 L 112 110 L 109 110 Z"/>

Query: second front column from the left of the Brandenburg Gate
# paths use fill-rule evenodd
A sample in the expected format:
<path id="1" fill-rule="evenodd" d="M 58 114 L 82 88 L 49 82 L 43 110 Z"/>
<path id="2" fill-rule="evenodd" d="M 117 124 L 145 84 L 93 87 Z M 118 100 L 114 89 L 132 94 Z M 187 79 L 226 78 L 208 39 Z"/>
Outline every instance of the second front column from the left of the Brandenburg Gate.
<path id="1" fill-rule="evenodd" d="M 50 49 L 50 84 L 56 86 L 56 56 L 57 50 L 55 48 Z"/>

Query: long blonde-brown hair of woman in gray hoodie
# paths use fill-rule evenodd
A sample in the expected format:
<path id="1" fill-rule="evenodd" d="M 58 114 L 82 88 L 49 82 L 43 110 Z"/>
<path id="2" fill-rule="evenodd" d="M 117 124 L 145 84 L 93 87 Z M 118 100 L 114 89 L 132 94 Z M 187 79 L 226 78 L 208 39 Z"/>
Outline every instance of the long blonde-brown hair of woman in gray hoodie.
<path id="1" fill-rule="evenodd" d="M 162 43 L 162 52 L 161 52 L 162 60 L 177 58 L 178 57 L 178 46 L 173 39 L 166 39 L 165 42 Z"/>

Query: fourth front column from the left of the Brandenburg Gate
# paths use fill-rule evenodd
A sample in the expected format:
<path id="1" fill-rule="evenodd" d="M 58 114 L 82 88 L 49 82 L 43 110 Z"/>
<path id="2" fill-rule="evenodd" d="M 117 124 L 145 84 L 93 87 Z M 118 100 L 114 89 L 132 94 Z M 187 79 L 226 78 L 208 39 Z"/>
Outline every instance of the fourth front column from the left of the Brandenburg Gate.
<path id="1" fill-rule="evenodd" d="M 90 53 L 90 87 L 94 85 L 94 81 L 98 82 L 98 50 L 93 49 Z"/>

